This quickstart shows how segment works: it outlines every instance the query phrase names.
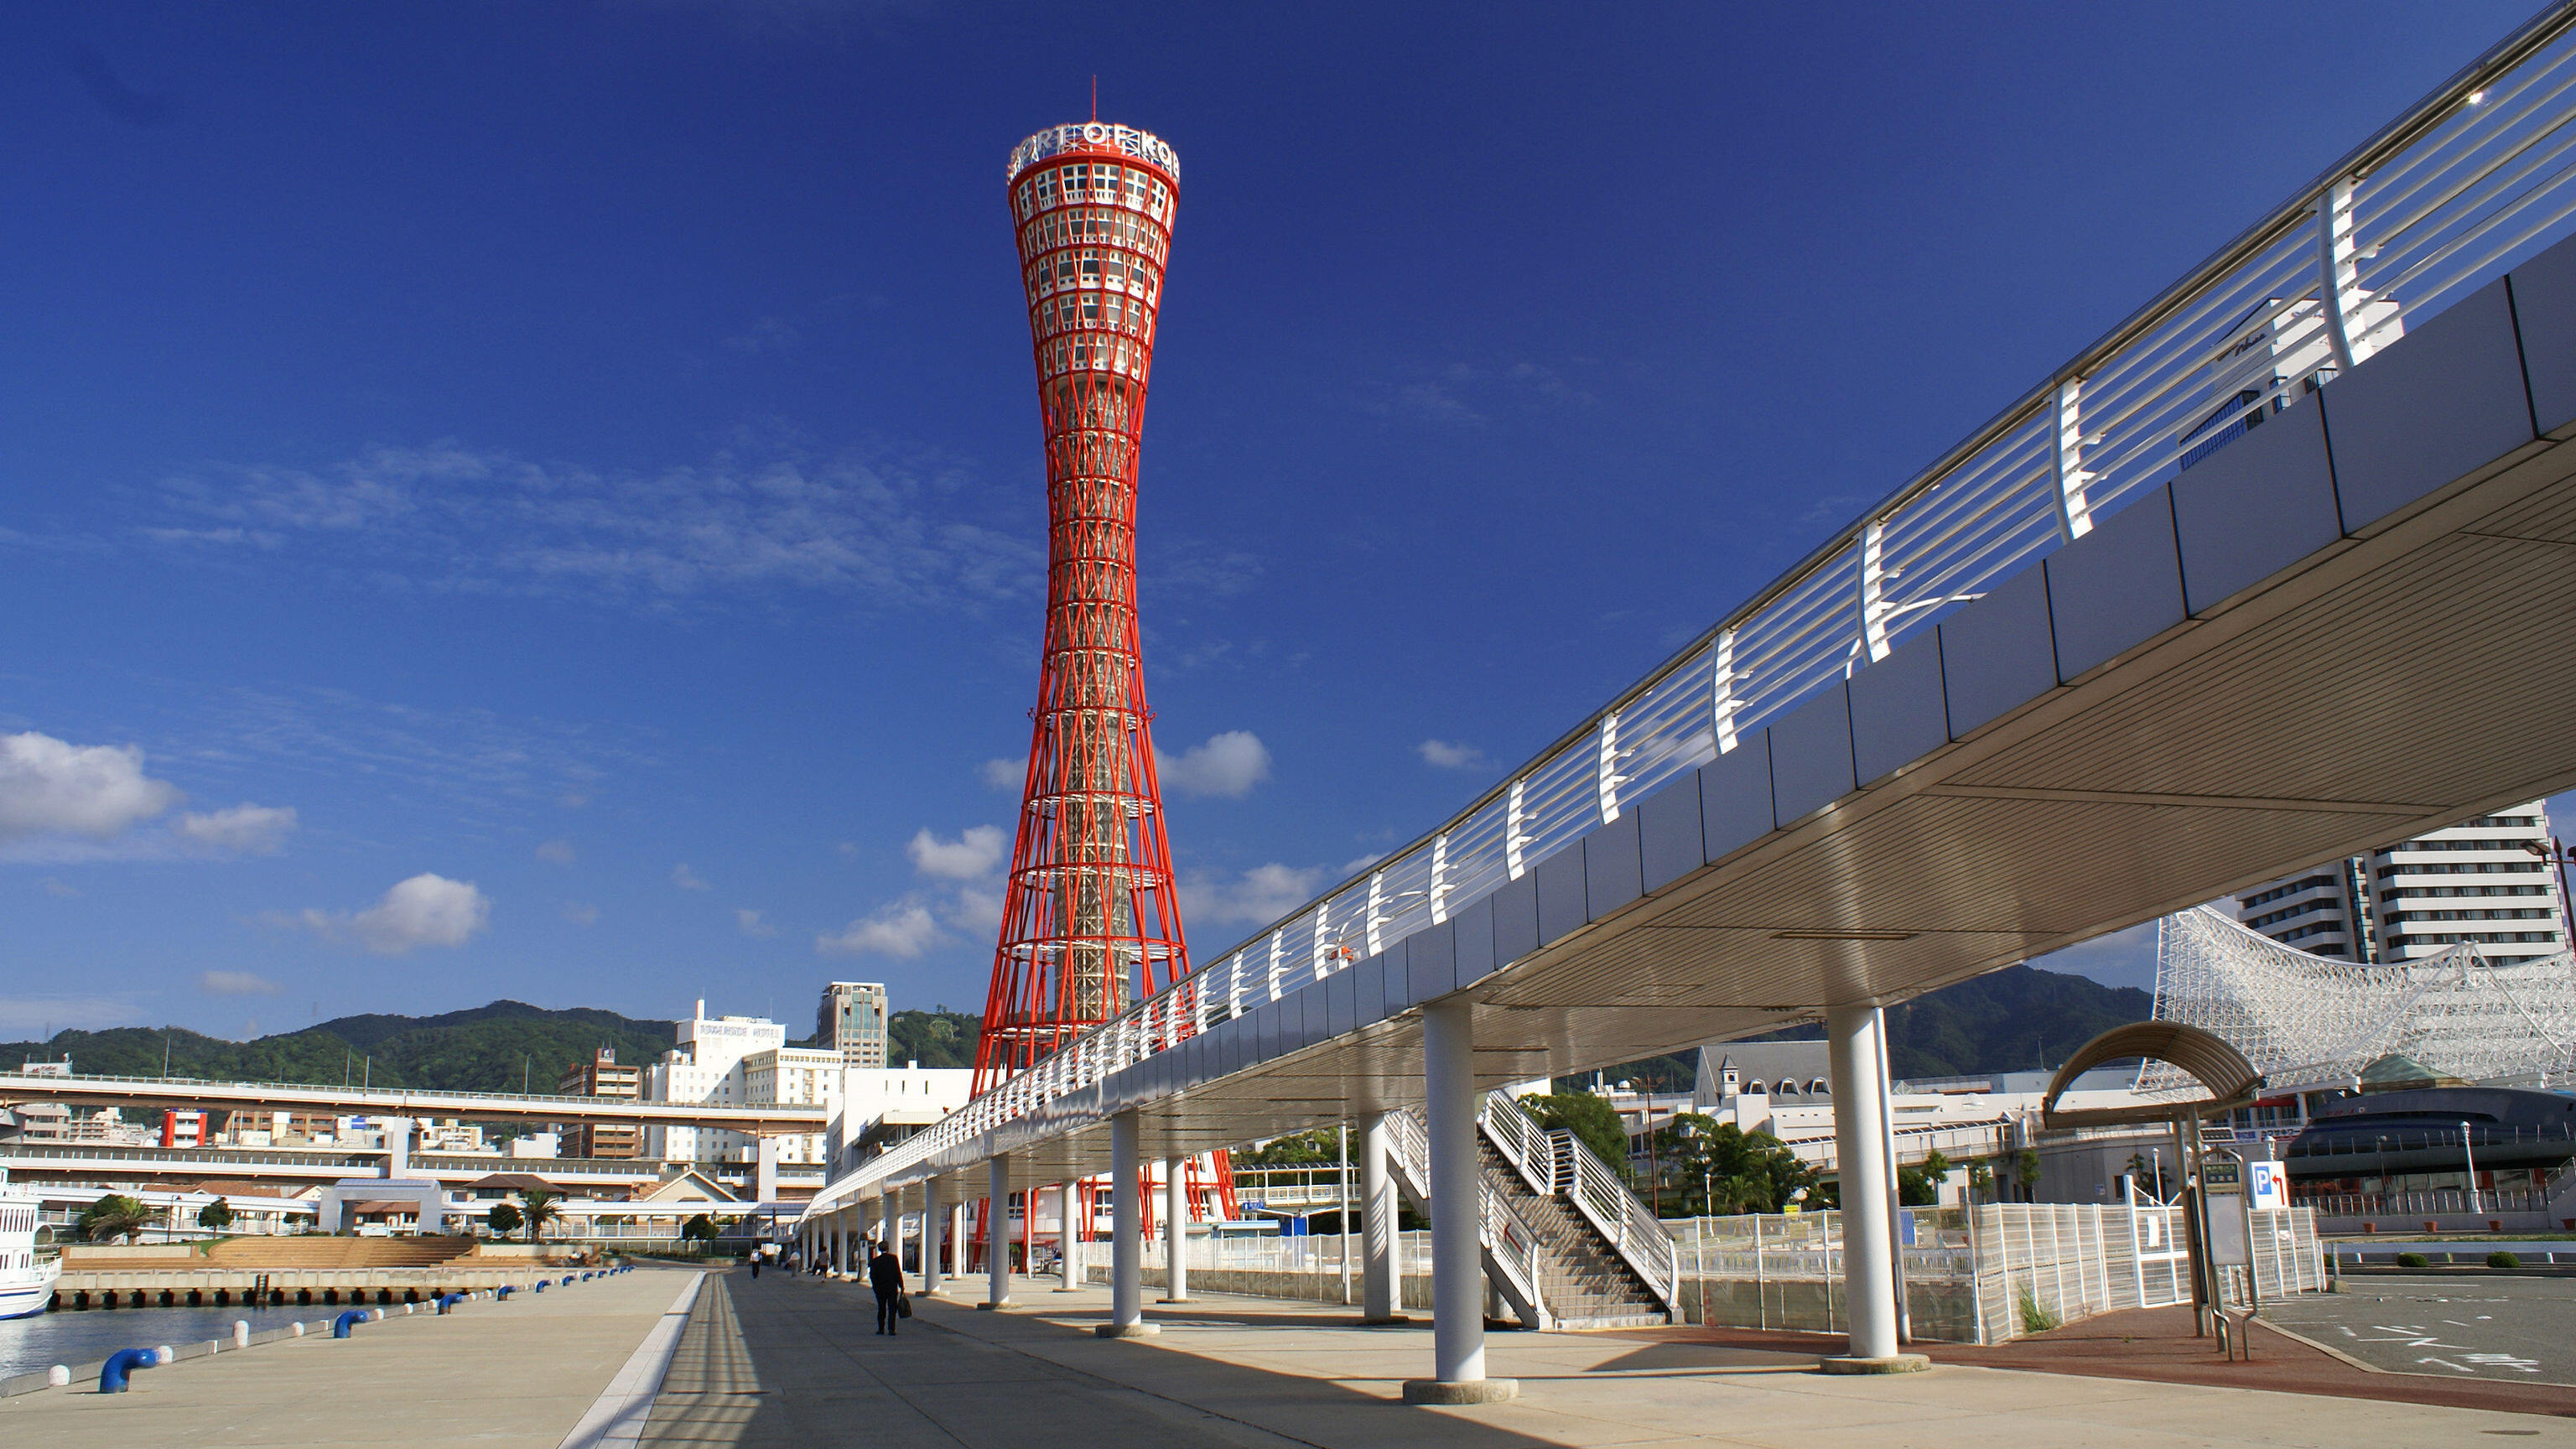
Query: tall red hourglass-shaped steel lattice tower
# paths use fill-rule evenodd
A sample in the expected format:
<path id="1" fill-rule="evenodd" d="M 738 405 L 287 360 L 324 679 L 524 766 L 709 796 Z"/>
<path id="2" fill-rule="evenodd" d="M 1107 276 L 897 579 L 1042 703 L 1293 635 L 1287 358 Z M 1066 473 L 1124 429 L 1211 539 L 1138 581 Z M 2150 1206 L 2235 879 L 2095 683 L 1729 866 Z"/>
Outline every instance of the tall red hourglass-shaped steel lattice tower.
<path id="1" fill-rule="evenodd" d="M 1010 152 L 1046 423 L 1046 652 L 976 1091 L 1190 972 L 1136 647 L 1136 443 L 1177 199 L 1180 157 L 1131 126 Z"/>

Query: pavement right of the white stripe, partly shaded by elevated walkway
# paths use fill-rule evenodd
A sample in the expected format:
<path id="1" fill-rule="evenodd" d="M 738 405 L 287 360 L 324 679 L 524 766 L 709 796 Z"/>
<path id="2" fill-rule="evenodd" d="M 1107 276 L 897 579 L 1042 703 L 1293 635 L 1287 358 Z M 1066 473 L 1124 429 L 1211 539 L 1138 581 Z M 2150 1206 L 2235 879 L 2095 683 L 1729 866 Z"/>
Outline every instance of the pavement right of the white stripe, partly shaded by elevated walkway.
<path id="1" fill-rule="evenodd" d="M 914 1299 L 920 1315 L 886 1341 L 855 1284 L 726 1274 L 726 1292 L 716 1287 L 701 1294 L 644 1444 L 770 1449 L 855 1434 L 969 1449 L 1110 1436 L 1350 1449 L 1814 1449 L 1819 1436 L 1922 1449 L 2445 1449 L 2499 1436 L 2576 1446 L 2576 1421 L 2530 1413 L 1953 1364 L 1844 1379 L 1811 1372 L 1811 1354 L 1669 1333 L 1494 1333 L 1489 1372 L 1520 1379 L 1520 1400 L 1404 1408 L 1401 1382 L 1430 1364 L 1422 1323 L 1358 1328 L 1316 1305 L 1211 1297 L 1151 1310 L 1159 1338 L 1103 1341 L 1090 1330 L 1108 1318 L 1105 1289 L 1051 1294 L 1033 1279 L 1005 1312 L 974 1312 L 971 1297 Z"/>

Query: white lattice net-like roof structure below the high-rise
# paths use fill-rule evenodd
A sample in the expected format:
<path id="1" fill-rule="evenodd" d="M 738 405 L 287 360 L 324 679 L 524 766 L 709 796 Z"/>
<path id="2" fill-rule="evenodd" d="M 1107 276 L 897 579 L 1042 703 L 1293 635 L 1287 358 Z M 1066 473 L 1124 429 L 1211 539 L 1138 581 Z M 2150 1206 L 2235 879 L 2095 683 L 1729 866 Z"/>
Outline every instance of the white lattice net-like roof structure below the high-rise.
<path id="1" fill-rule="evenodd" d="M 2156 1021 L 2221 1036 L 2272 1091 L 2352 1085 L 2388 1055 L 2470 1083 L 2563 1085 L 2576 1075 L 2576 954 L 2499 967 L 2452 946 L 2360 964 L 2282 946 L 2202 905 L 2156 928 Z M 2138 1091 L 2200 1093 L 2161 1062 Z"/>

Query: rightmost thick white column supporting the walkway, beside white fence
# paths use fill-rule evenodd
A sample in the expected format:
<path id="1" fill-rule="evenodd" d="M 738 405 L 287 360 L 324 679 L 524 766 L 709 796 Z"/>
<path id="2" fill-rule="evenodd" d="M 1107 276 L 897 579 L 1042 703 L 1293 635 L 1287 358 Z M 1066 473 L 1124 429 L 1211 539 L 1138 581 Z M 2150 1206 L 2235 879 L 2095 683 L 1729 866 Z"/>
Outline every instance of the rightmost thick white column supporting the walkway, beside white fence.
<path id="1" fill-rule="evenodd" d="M 1826 1065 L 1834 1080 L 1834 1176 L 1842 1199 L 1842 1212 L 1834 1217 L 1842 1225 L 1842 1289 L 1852 1323 L 1850 1354 L 1826 1359 L 1829 1374 L 1901 1374 L 1927 1366 L 1922 1354 L 1896 1351 L 1880 1031 L 1886 1016 L 1875 1006 L 1834 1006 L 1824 1013 Z"/>

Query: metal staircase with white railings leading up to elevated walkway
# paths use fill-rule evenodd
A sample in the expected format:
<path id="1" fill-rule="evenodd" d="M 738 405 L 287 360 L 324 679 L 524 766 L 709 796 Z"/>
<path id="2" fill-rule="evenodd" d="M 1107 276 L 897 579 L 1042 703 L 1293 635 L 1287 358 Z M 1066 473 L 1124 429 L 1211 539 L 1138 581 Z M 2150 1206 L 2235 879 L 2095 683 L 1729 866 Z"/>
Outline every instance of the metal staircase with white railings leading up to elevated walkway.
<path id="1" fill-rule="evenodd" d="M 1394 1173 L 1430 1207 L 1422 1122 L 1388 1122 Z M 1486 1281 L 1530 1328 L 1641 1328 L 1674 1320 L 1672 1238 L 1571 1132 L 1548 1132 L 1507 1093 L 1476 1116 Z"/>

